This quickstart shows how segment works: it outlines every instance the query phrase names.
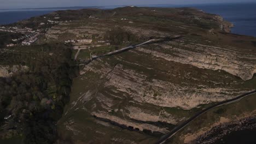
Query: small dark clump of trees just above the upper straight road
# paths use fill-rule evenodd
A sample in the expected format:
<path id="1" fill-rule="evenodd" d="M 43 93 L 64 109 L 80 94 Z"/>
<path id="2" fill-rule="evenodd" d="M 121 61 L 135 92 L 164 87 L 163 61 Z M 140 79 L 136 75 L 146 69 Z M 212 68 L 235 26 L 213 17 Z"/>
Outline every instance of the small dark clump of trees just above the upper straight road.
<path id="1" fill-rule="evenodd" d="M 110 31 L 106 32 L 105 35 L 105 39 L 109 40 L 110 44 L 112 45 L 121 45 L 124 42 L 128 42 L 128 41 L 136 41 L 136 35 L 126 31 L 123 28 L 115 28 L 115 29 L 111 29 Z"/>

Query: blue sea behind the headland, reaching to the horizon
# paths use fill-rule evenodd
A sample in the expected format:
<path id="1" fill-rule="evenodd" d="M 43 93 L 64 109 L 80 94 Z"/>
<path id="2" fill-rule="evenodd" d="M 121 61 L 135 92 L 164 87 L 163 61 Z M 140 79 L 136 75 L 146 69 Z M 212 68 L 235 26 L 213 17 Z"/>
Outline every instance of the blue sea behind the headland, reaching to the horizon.
<path id="1" fill-rule="evenodd" d="M 69 8 L 39 8 L 39 9 L 0 9 L 0 25 L 14 23 L 25 20 L 30 17 L 52 13 L 56 10 L 82 9 L 82 8 L 100 8 L 114 9 L 119 6 L 107 7 L 69 7 Z M 194 7 L 201 9 L 206 13 L 218 14 L 224 17 L 224 20 L 232 22 L 234 27 L 232 33 L 241 35 L 251 35 L 256 37 L 256 3 L 224 3 L 224 4 L 155 4 L 155 5 L 136 5 L 139 7 Z"/>

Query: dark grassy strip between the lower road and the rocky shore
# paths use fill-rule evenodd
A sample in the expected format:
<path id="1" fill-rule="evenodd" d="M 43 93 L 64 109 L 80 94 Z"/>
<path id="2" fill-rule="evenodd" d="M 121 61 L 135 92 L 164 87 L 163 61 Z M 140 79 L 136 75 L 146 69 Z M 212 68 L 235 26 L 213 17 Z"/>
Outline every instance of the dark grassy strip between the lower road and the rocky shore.
<path id="1" fill-rule="evenodd" d="M 218 123 L 220 118 L 228 118 L 231 121 L 237 121 L 240 118 L 255 116 L 256 112 L 256 94 L 249 95 L 235 103 L 216 107 L 202 116 L 196 118 L 193 122 L 179 131 L 168 143 L 184 143 L 184 135 L 196 134 L 200 130 L 210 130 L 214 123 Z"/>

